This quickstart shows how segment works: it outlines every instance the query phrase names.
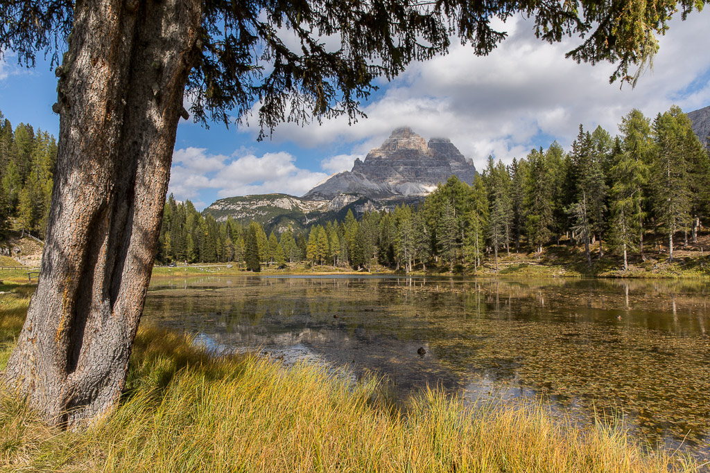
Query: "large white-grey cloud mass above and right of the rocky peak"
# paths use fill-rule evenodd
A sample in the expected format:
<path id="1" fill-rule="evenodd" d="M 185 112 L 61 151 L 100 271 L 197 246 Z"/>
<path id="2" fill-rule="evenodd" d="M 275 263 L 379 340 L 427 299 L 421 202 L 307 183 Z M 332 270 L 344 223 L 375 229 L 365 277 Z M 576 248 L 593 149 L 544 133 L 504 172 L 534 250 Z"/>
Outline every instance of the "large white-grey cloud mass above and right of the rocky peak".
<path id="1" fill-rule="evenodd" d="M 577 65 L 564 58 L 579 38 L 543 43 L 532 33 L 532 21 L 516 16 L 503 26 L 508 39 L 488 57 L 454 42 L 448 55 L 410 65 L 365 104 L 368 118 L 353 126 L 342 117 L 322 126 L 284 123 L 273 140 L 303 148 L 349 145 L 354 155 L 365 154 L 393 128 L 408 125 L 425 138 L 451 138 L 480 168 L 491 153 L 509 162 L 553 139 L 569 145 L 579 123 L 588 129 L 601 125 L 613 135 L 631 108 L 655 116 L 672 104 L 686 111 L 710 104 L 710 48 L 698 44 L 709 19 L 707 9 L 684 22 L 679 15 L 673 18 L 659 38 L 655 67 L 635 89 L 628 84 L 620 89 L 618 82 L 608 84 L 613 65 Z M 345 158 L 329 158 L 322 167 L 342 168 L 336 162 L 344 165 Z"/>

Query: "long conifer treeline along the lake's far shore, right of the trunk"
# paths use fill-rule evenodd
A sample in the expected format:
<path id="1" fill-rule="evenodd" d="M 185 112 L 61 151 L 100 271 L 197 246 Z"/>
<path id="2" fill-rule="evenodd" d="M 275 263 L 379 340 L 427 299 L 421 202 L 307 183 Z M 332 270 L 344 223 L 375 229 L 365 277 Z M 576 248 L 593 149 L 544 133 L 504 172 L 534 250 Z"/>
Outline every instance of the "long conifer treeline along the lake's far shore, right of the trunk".
<path id="1" fill-rule="evenodd" d="M 644 235 L 665 235 L 673 259 L 674 238 L 694 242 L 710 211 L 710 159 L 680 108 L 654 120 L 638 110 L 621 120 L 612 137 L 601 127 L 579 126 L 572 149 L 556 142 L 531 150 L 510 165 L 488 158 L 467 184 L 452 177 L 417 206 L 349 212 L 342 222 L 288 230 L 268 237 L 252 222 L 244 228 L 203 217 L 170 198 L 160 236 L 159 259 L 236 261 L 248 269 L 285 262 L 368 268 L 426 269 L 435 262 L 477 269 L 484 257 L 498 266 L 498 253 L 528 250 L 537 255 L 562 238 L 594 257 L 614 252 L 628 269 L 628 255 L 645 259 Z"/>

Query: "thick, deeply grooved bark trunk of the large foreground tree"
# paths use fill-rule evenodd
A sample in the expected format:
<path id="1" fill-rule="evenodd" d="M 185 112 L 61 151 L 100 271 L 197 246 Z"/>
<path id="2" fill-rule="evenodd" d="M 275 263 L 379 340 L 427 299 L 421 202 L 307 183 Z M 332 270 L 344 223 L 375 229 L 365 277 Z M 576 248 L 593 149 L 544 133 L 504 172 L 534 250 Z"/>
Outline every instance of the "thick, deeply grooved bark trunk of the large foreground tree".
<path id="1" fill-rule="evenodd" d="M 197 0 L 85 0 L 58 75 L 60 135 L 37 290 L 6 368 L 45 421 L 107 413 L 146 299 Z M 158 33 L 156 33 L 158 32 Z"/>

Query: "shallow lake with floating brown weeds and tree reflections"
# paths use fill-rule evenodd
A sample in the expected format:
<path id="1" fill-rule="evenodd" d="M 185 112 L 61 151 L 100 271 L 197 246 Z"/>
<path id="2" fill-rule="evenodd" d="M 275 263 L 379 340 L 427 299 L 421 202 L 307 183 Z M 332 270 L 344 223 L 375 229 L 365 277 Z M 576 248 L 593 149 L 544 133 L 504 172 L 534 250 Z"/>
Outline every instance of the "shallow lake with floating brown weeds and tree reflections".
<path id="1" fill-rule="evenodd" d="M 144 321 L 217 352 L 377 374 L 401 398 L 428 384 L 623 416 L 648 445 L 710 460 L 709 295 L 670 280 L 193 277 L 155 280 Z"/>

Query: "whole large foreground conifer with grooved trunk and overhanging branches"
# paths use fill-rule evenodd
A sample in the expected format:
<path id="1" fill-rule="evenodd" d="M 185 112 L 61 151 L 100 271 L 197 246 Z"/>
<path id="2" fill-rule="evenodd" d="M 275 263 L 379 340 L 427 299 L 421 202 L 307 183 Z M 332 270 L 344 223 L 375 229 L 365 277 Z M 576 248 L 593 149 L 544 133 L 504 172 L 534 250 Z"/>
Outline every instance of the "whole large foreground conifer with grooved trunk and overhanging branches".
<path id="1" fill-rule="evenodd" d="M 518 13 L 542 40 L 583 38 L 568 57 L 614 62 L 611 80 L 632 82 L 630 67 L 652 57 L 670 16 L 705 2 L 2 2 L 0 51 L 26 65 L 50 54 L 60 120 L 38 287 L 6 380 L 50 423 L 81 425 L 116 405 L 183 104 L 203 123 L 254 110 L 261 136 L 283 121 L 354 121 L 376 78 L 447 52 L 452 35 L 488 54 L 506 37 L 491 21 Z"/>

